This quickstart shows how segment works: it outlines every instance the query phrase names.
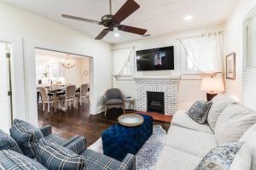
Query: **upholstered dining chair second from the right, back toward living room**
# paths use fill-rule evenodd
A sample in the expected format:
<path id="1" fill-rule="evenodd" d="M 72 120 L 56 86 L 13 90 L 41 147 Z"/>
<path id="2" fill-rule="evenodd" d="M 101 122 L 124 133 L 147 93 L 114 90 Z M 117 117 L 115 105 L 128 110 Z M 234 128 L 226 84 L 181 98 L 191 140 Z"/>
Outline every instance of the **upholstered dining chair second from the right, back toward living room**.
<path id="1" fill-rule="evenodd" d="M 75 85 L 69 85 L 66 87 L 66 94 L 64 96 L 64 105 L 65 109 L 67 110 L 67 103 L 69 105 L 73 105 L 75 108 L 75 97 L 76 97 L 76 86 Z"/>

